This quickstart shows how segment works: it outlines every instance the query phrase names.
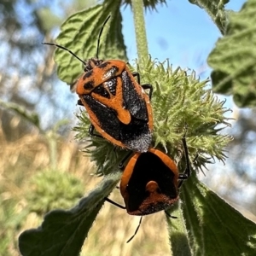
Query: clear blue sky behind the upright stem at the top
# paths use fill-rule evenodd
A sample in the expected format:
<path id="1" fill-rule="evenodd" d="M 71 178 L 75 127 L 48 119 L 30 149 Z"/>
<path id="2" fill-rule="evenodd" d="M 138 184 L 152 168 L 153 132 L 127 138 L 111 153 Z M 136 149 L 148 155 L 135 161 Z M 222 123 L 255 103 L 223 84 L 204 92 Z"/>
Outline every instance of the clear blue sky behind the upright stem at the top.
<path id="1" fill-rule="evenodd" d="M 146 12 L 148 49 L 153 58 L 164 61 L 169 58 L 174 66 L 189 67 L 206 71 L 207 55 L 221 37 L 204 9 L 188 0 L 166 1 L 158 7 L 158 12 Z M 246 1 L 231 0 L 227 9 L 238 11 Z M 136 41 L 131 9 L 123 10 L 123 32 L 127 54 L 130 60 L 137 57 Z"/>

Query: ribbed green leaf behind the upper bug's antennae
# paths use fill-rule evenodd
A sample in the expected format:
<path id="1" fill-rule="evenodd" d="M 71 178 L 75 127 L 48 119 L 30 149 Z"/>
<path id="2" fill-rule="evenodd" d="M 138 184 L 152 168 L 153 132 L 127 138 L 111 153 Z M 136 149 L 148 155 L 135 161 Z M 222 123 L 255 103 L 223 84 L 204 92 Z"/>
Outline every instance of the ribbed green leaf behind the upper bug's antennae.
<path id="1" fill-rule="evenodd" d="M 123 34 L 120 1 L 96 5 L 70 16 L 61 26 L 56 43 L 73 51 L 79 58 L 87 60 L 96 57 L 96 45 L 102 24 L 111 15 L 104 26 L 99 58 L 127 60 Z M 63 49 L 56 49 L 58 77 L 67 84 L 73 84 L 83 73 L 82 63 Z"/>

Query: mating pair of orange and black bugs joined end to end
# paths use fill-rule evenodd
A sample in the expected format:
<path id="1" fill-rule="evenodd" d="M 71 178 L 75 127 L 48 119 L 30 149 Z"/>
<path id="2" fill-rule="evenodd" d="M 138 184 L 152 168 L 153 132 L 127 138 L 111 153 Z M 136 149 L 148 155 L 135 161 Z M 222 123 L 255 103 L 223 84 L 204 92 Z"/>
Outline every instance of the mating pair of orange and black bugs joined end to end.
<path id="1" fill-rule="evenodd" d="M 61 45 L 44 44 L 65 49 L 84 63 L 84 74 L 76 84 L 76 92 L 79 105 L 89 113 L 90 135 L 104 137 L 121 148 L 136 152 L 125 167 L 124 163 L 131 154 L 119 165 L 123 171 L 120 192 L 125 201 L 123 208 L 131 215 L 143 216 L 166 210 L 177 201 L 178 189 L 190 175 L 189 153 L 184 136 L 186 170 L 179 173 L 174 160 L 159 149 L 150 148 L 153 136 L 152 85 L 140 84 L 139 73 L 131 73 L 124 61 L 98 59 L 100 38 L 108 19 L 99 33 L 96 58 L 89 61 L 81 60 Z M 108 198 L 106 201 L 119 206 Z"/>

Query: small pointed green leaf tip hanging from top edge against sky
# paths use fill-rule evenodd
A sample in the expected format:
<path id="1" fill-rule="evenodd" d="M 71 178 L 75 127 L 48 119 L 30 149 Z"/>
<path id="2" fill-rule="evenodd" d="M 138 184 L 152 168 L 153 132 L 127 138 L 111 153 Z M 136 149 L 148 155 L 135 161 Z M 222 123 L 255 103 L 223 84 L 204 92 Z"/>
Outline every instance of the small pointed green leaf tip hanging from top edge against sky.
<path id="1" fill-rule="evenodd" d="M 224 34 L 225 26 L 227 24 L 227 13 L 224 5 L 229 3 L 229 0 L 189 0 L 190 3 L 196 4 L 201 9 L 205 9 L 210 15 L 212 21 L 218 26 L 218 29 Z"/>

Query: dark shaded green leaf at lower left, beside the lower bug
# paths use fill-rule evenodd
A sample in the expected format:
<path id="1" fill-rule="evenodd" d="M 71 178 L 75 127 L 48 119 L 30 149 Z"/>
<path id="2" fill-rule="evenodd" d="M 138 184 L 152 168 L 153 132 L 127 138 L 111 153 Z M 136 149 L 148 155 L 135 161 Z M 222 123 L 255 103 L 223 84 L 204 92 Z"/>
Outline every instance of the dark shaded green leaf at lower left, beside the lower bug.
<path id="1" fill-rule="evenodd" d="M 20 253 L 23 256 L 79 255 L 104 197 L 113 190 L 119 176 L 119 172 L 105 176 L 99 186 L 71 210 L 47 213 L 38 229 L 26 230 L 20 235 Z"/>

